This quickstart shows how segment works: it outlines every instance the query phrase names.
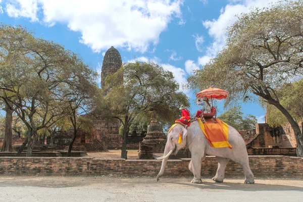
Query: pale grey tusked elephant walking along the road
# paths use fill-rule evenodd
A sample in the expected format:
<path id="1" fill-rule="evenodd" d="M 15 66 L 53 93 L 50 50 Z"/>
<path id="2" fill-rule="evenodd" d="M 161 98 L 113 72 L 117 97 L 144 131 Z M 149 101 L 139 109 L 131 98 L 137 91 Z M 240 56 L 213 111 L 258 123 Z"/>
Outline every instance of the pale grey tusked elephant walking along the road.
<path id="1" fill-rule="evenodd" d="M 179 134 L 182 134 L 183 141 L 181 143 L 178 143 Z M 202 183 L 201 162 L 205 160 L 206 155 L 216 156 L 218 160 L 217 174 L 213 177 L 214 181 L 223 182 L 226 165 L 229 160 L 232 160 L 242 166 L 245 175 L 244 183 L 255 183 L 254 174 L 252 174 L 248 164 L 245 142 L 239 132 L 231 126 L 228 126 L 228 142 L 232 149 L 228 147 L 211 147 L 197 121 L 191 122 L 187 128 L 182 125 L 176 125 L 167 135 L 163 157 L 157 158 L 162 159 L 157 181 L 164 174 L 167 160 L 172 151 L 175 149 L 175 155 L 177 155 L 181 148 L 187 146 L 191 152 L 189 170 L 194 176 L 191 180 L 192 183 Z"/>

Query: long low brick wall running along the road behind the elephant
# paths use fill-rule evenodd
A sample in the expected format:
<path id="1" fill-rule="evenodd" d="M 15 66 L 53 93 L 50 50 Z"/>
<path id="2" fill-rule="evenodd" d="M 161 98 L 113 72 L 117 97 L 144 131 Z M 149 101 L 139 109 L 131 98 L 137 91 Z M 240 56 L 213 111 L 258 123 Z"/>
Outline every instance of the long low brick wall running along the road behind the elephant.
<path id="1" fill-rule="evenodd" d="M 188 169 L 190 159 L 169 160 L 165 176 L 192 176 Z M 157 176 L 162 161 L 124 160 L 95 158 L 20 158 L 0 157 L 1 175 L 42 176 L 98 176 L 107 174 Z M 255 177 L 303 178 L 303 158 L 286 156 L 250 156 L 249 165 Z M 201 175 L 213 177 L 218 162 L 215 157 L 206 157 L 201 163 Z M 230 161 L 226 177 L 243 177 L 241 166 Z"/>

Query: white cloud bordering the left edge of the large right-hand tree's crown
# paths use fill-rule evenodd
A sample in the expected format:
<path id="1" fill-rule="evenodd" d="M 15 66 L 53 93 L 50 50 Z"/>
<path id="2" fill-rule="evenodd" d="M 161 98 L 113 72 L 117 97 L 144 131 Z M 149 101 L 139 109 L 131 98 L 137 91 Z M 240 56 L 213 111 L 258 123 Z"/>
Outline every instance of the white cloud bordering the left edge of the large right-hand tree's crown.
<path id="1" fill-rule="evenodd" d="M 222 50 L 226 42 L 226 30 L 237 20 L 237 14 L 247 13 L 252 7 L 269 7 L 270 3 L 278 1 L 279 0 L 229 0 L 230 3 L 221 9 L 221 14 L 218 19 L 203 22 L 213 41 L 206 48 L 206 54 L 198 58 L 198 64 L 206 64 Z"/>

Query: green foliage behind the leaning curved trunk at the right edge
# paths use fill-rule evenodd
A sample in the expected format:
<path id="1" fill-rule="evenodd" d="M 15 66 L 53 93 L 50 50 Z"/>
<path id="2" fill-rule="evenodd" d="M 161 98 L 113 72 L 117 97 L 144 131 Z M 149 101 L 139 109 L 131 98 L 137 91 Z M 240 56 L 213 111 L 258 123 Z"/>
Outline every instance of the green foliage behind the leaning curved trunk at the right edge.
<path id="1" fill-rule="evenodd" d="M 296 120 L 300 121 L 303 117 L 303 80 L 294 83 L 287 83 L 282 88 L 277 90 L 281 105 L 291 114 Z M 283 114 L 272 105 L 265 103 L 267 110 L 267 122 L 270 126 L 278 127 L 288 123 Z"/>

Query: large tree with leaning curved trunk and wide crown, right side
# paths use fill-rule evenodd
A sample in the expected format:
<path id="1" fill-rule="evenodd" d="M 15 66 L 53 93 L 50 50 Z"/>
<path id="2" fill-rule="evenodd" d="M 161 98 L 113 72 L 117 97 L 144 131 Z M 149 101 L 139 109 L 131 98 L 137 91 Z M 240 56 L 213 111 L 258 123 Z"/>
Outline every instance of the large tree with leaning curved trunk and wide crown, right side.
<path id="1" fill-rule="evenodd" d="M 241 14 L 227 31 L 224 49 L 188 79 L 192 88 L 227 90 L 226 105 L 260 97 L 275 106 L 294 131 L 298 157 L 303 157 L 303 135 L 277 89 L 303 75 L 302 19 L 302 0 Z"/>

